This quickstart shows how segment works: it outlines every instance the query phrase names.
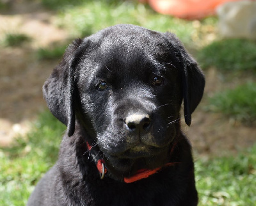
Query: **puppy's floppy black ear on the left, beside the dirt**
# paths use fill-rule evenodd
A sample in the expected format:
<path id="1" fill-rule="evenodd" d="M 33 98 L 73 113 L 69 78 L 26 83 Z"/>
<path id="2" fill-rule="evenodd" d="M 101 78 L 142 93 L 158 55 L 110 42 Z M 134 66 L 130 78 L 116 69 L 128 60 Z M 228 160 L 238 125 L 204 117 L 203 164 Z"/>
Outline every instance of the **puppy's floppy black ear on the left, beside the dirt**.
<path id="1" fill-rule="evenodd" d="M 60 64 L 54 68 L 51 76 L 43 86 L 44 99 L 51 113 L 67 125 L 68 136 L 75 131 L 75 69 L 79 58 L 79 45 L 83 40 L 77 39 L 68 46 Z"/>

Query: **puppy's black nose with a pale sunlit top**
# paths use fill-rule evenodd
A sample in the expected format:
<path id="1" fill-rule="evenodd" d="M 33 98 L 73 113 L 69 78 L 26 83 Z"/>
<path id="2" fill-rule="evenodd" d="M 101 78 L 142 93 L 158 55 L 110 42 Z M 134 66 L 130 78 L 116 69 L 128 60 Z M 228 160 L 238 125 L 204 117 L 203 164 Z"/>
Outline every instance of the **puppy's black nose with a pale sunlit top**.
<path id="1" fill-rule="evenodd" d="M 132 114 L 125 118 L 126 128 L 131 132 L 143 132 L 150 128 L 151 121 L 149 115 Z"/>

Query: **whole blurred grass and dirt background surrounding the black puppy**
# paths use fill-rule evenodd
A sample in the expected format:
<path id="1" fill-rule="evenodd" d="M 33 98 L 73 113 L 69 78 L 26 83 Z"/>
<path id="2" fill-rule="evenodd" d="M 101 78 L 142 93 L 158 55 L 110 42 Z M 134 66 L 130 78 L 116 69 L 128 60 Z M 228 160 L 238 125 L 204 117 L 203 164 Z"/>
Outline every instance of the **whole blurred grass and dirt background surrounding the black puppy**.
<path id="1" fill-rule="evenodd" d="M 58 158 L 65 126 L 42 85 L 74 38 L 115 24 L 171 31 L 205 72 L 182 123 L 200 205 L 256 203 L 256 1 L 0 0 L 0 205 L 25 205 Z"/>

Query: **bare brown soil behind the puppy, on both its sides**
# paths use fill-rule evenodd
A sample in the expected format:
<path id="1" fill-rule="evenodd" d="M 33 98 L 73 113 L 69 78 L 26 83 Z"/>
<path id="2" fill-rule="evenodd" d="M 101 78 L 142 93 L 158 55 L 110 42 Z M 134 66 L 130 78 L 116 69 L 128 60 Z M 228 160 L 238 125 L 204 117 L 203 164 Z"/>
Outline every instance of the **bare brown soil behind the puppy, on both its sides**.
<path id="1" fill-rule="evenodd" d="M 33 38 L 22 47 L 0 48 L 0 145 L 8 146 L 17 134 L 29 131 L 30 123 L 39 111 L 46 108 L 42 98 L 42 85 L 58 60 L 42 61 L 36 58 L 38 47 L 66 40 L 65 31 L 52 24 L 54 14 L 42 10 L 37 3 L 13 4 L 12 10 L 0 15 L 0 38 L 5 33 L 26 33 Z M 246 127 L 221 114 L 207 113 L 203 107 L 215 91 L 232 88 L 241 79 L 223 81 L 211 68 L 205 72 L 206 88 L 202 103 L 193 113 L 191 127 L 184 123 L 197 155 L 236 154 L 256 142 L 255 127 Z M 244 77 L 248 79 L 250 77 Z"/>

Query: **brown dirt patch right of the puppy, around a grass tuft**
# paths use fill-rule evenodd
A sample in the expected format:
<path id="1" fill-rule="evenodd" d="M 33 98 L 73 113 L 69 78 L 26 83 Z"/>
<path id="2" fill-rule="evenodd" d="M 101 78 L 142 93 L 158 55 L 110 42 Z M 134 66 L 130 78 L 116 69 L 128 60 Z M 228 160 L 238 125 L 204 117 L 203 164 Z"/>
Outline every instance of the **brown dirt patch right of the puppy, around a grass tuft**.
<path id="1" fill-rule="evenodd" d="M 227 74 L 226 74 L 227 75 Z M 228 118 L 220 113 L 205 111 L 207 97 L 216 91 L 234 88 L 237 84 L 246 81 L 255 81 L 255 77 L 244 75 L 243 77 L 223 77 L 214 68 L 205 72 L 206 85 L 202 102 L 192 115 L 191 126 L 185 127 L 185 132 L 193 144 L 198 155 L 226 155 L 236 154 L 246 147 L 256 143 L 255 127 L 247 127 L 241 122 Z"/>

